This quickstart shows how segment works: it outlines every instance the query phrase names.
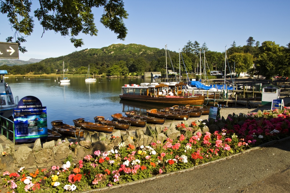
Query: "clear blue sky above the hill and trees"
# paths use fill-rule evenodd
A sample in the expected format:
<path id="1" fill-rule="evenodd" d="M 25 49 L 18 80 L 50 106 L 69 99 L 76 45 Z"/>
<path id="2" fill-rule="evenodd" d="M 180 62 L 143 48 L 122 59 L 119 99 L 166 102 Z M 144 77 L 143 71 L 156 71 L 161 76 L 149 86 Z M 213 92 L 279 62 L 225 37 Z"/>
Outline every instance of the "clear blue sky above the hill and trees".
<path id="1" fill-rule="evenodd" d="M 38 1 L 32 1 L 34 7 Z M 255 41 L 275 41 L 280 46 L 290 42 L 290 1 L 289 0 L 124 0 L 129 14 L 124 20 L 128 29 L 125 41 L 99 23 L 102 8 L 95 9 L 98 36 L 81 34 L 84 45 L 75 48 L 70 37 L 62 37 L 46 31 L 35 19 L 35 29 L 27 37 L 28 52 L 19 53 L 20 60 L 30 58 L 45 59 L 59 57 L 86 48 L 102 48 L 116 43 L 135 43 L 148 47 L 167 48 L 178 52 L 190 40 L 202 45 L 204 42 L 211 51 L 224 52 L 225 46 L 246 45 L 252 36 Z M 6 15 L 0 14 L 0 42 L 14 32 L 10 29 Z M 78 38 L 79 38 L 78 37 Z"/>

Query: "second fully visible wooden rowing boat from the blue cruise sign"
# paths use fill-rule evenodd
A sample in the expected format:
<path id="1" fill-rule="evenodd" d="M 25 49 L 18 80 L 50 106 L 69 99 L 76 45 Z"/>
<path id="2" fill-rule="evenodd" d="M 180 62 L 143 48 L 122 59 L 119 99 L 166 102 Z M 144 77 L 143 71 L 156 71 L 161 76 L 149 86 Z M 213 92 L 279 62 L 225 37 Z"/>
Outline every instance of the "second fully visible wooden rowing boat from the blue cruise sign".
<path id="1" fill-rule="evenodd" d="M 84 118 L 79 118 L 73 120 L 76 127 L 80 127 L 90 131 L 104 132 L 104 133 L 112 133 L 114 130 L 114 126 L 108 126 L 99 123 L 92 123 L 85 121 Z"/>

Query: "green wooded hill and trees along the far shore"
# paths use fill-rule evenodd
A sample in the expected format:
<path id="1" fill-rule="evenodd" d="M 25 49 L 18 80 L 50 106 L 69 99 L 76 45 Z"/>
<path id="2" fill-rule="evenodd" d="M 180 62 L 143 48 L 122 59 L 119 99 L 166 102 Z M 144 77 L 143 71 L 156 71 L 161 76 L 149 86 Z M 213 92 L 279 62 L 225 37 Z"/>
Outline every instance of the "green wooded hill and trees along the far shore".
<path id="1" fill-rule="evenodd" d="M 266 78 L 275 75 L 290 76 L 290 43 L 287 47 L 272 41 L 265 41 L 260 45 L 253 37 L 249 37 L 246 43 L 244 46 L 237 46 L 234 41 L 226 52 L 221 53 L 208 50 L 206 43 L 200 46 L 197 41 L 188 41 L 180 54 L 167 50 L 167 58 L 165 49 L 137 44 L 113 44 L 101 49 L 84 49 L 58 58 L 47 58 L 34 64 L 12 67 L 3 65 L 0 69 L 5 69 L 10 74 L 21 75 L 61 74 L 64 61 L 68 74 L 86 74 L 88 65 L 92 75 L 128 76 L 129 73 L 141 75 L 146 71 L 160 71 L 166 74 L 167 59 L 168 70 L 177 72 L 180 61 L 182 73 L 197 73 L 197 70 L 200 72 L 202 66 L 201 71 L 206 69 L 205 72 L 209 75 L 209 71 L 212 70 L 224 71 L 226 65 L 226 73 L 229 73 L 229 69 L 235 69 L 236 73 L 247 72 Z"/>

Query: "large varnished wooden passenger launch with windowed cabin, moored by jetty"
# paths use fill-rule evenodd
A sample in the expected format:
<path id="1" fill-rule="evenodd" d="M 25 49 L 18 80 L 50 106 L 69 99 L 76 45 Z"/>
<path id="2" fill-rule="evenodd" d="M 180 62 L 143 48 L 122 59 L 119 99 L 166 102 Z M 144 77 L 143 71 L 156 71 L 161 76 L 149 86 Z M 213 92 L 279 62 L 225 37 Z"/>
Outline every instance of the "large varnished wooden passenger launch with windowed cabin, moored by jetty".
<path id="1" fill-rule="evenodd" d="M 142 85 L 144 84 L 144 86 Z M 155 103 L 155 104 L 178 104 L 178 105 L 202 105 L 205 96 L 179 96 L 180 90 L 173 90 L 174 95 L 168 96 L 168 93 L 163 94 L 163 91 L 168 91 L 167 84 L 153 84 L 149 86 L 147 83 L 141 85 L 129 86 L 126 84 L 122 87 L 122 94 L 119 95 L 122 100 L 130 100 L 137 102 Z M 175 94 L 177 93 L 177 94 Z"/>

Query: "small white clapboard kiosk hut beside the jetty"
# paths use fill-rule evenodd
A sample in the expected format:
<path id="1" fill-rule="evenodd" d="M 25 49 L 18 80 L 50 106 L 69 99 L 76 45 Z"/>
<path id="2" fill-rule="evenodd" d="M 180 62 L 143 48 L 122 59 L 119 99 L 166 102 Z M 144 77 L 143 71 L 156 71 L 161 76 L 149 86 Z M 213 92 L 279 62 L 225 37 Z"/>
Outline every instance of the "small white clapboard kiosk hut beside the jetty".
<path id="1" fill-rule="evenodd" d="M 262 86 L 262 105 L 271 106 L 272 100 L 280 98 L 281 88 L 273 84 Z"/>

